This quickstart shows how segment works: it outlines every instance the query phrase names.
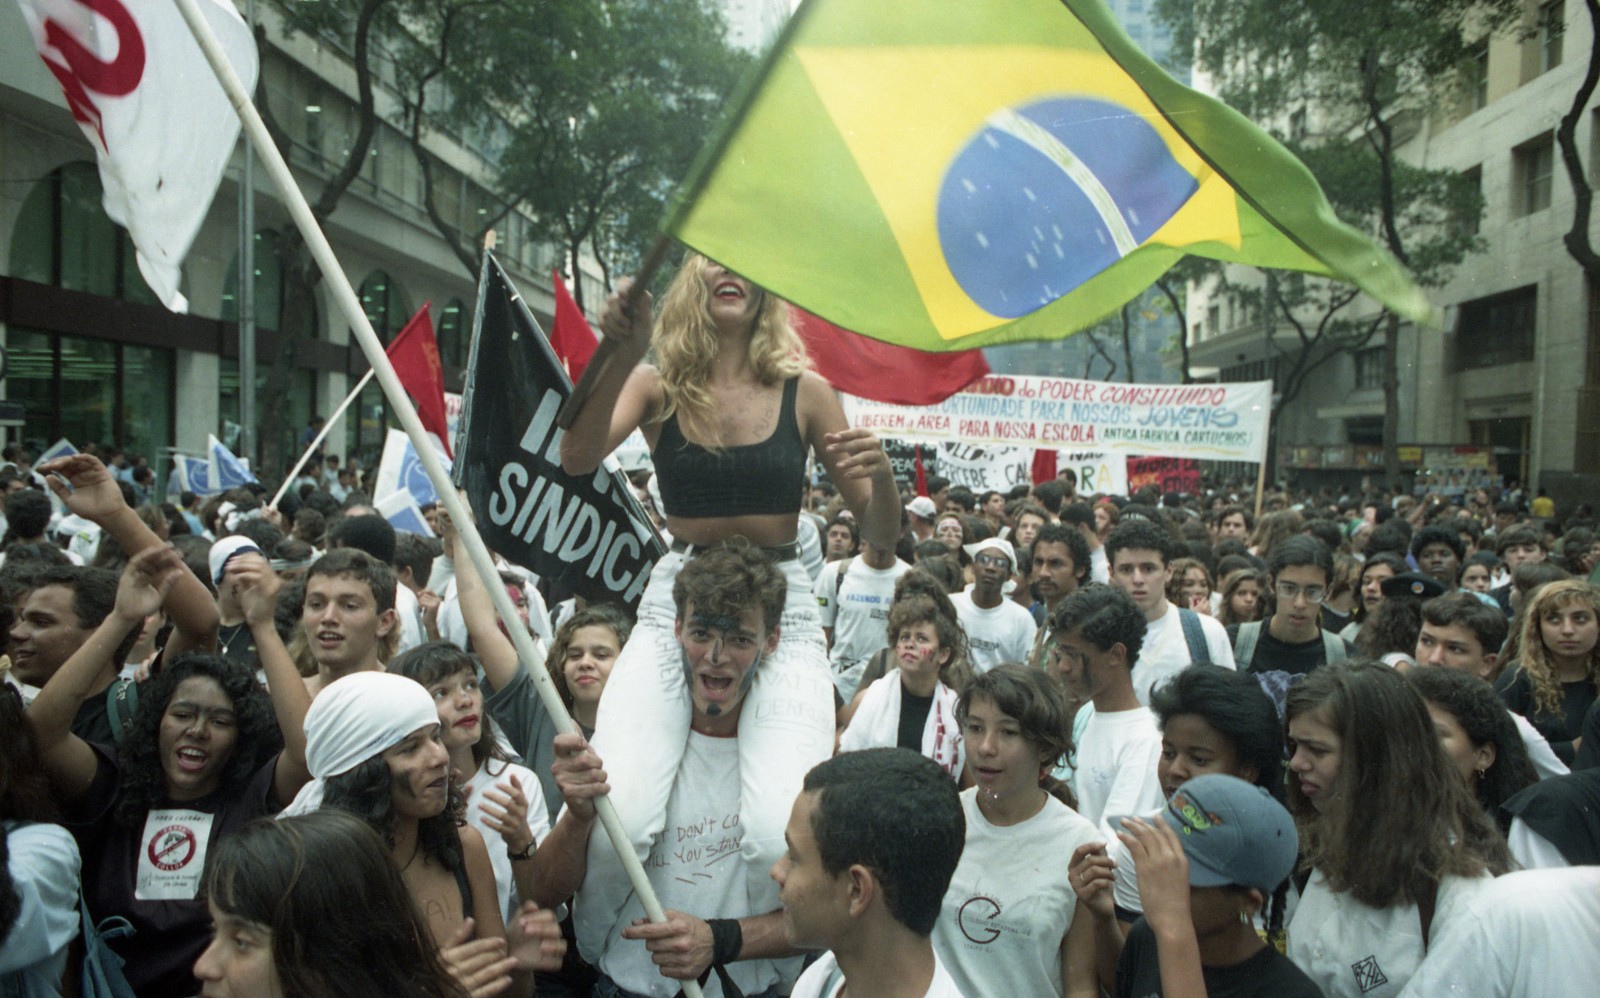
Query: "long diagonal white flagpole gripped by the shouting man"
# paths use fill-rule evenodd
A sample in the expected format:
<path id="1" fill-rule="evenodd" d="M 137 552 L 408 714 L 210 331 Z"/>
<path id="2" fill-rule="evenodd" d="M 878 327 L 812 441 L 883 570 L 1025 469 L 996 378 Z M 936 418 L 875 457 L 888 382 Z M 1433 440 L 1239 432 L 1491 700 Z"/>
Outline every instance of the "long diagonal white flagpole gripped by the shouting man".
<path id="1" fill-rule="evenodd" d="M 400 419 L 400 425 L 405 429 L 406 437 L 411 438 L 411 445 L 416 448 L 416 456 L 422 462 L 422 470 L 427 472 L 429 480 L 434 483 L 434 491 L 438 493 L 440 505 L 443 505 L 450 513 L 450 518 L 459 531 L 461 541 L 467 547 L 472 566 L 478 571 L 482 579 L 494 579 L 498 571 L 494 568 L 494 560 L 490 557 L 490 549 L 483 544 L 483 537 L 478 534 L 478 528 L 474 523 L 472 515 L 467 512 L 466 504 L 456 493 L 456 486 L 450 481 L 450 475 L 445 473 L 445 465 L 440 464 L 432 443 L 429 443 L 427 432 L 422 429 L 422 421 L 416 414 L 416 406 L 411 405 L 411 398 L 406 397 L 405 389 L 400 387 L 400 377 L 395 374 L 394 365 L 389 363 L 389 355 L 384 353 L 384 347 L 378 341 L 378 334 L 373 333 L 373 325 L 368 321 L 366 312 L 362 310 L 362 302 L 355 296 L 355 288 L 350 286 L 350 280 L 344 275 L 344 269 L 339 267 L 339 259 L 334 256 L 333 246 L 328 245 L 328 237 L 323 235 L 322 227 L 317 226 L 317 218 L 312 214 L 310 205 L 306 203 L 306 195 L 301 194 L 299 186 L 294 184 L 294 174 L 290 173 L 288 163 L 283 162 L 283 155 L 278 154 L 277 146 L 272 142 L 272 136 L 267 133 L 267 126 L 261 120 L 261 114 L 256 110 L 256 106 L 251 104 L 250 94 L 245 93 L 245 86 L 240 83 L 238 75 L 234 74 L 232 64 L 229 64 L 221 43 L 211 32 L 211 26 L 206 24 L 205 14 L 200 13 L 195 0 L 176 0 L 176 3 L 178 10 L 184 16 L 184 21 L 189 24 L 189 30 L 194 32 L 195 40 L 200 43 L 200 50 L 205 53 L 206 61 L 211 64 L 211 70 L 222 83 L 227 99 L 234 104 L 234 110 L 238 112 L 238 117 L 245 125 L 245 133 L 251 138 L 256 146 L 256 152 L 261 155 L 262 166 L 267 168 L 267 174 L 278 187 L 278 194 L 283 195 L 283 203 L 290 210 L 294 226 L 306 238 L 306 246 L 317 261 L 317 267 L 320 267 L 323 277 L 328 278 L 328 285 L 334 294 L 339 312 L 344 313 L 346 321 L 349 321 L 350 328 L 355 331 L 355 337 L 362 344 L 362 352 L 366 353 L 366 361 L 373 366 L 373 373 L 378 376 L 378 384 L 384 389 L 384 395 L 389 398 L 394 414 Z M 562 704 L 562 697 L 555 691 L 555 681 L 550 680 L 549 670 L 539 665 L 541 659 L 534 649 L 533 638 L 528 635 L 528 629 L 520 625 L 520 617 L 510 603 L 510 597 L 506 593 L 506 587 L 486 585 L 486 589 L 490 592 L 490 598 L 494 601 L 494 611 L 499 614 L 501 621 L 506 624 L 506 630 L 510 633 L 512 645 L 517 646 L 517 656 L 522 659 L 522 667 L 533 678 L 534 689 L 539 691 L 539 699 L 544 701 L 544 709 L 555 721 L 557 731 L 562 734 L 581 734 L 578 725 L 573 721 L 573 717 L 566 712 L 566 705 Z M 627 832 L 622 828 L 622 820 L 618 817 L 616 808 L 611 804 L 611 798 L 595 798 L 595 811 L 600 816 L 600 824 L 605 825 L 606 835 L 611 838 L 611 846 L 616 851 L 618 859 L 622 862 L 629 883 L 634 886 L 634 894 L 638 896 L 640 905 L 645 908 L 645 915 L 650 921 L 664 923 L 667 920 L 666 912 L 662 912 L 661 900 L 656 899 L 656 892 L 650 886 L 650 878 L 645 875 L 645 865 L 634 852 L 634 846 L 627 838 Z M 680 984 L 686 998 L 704 998 L 694 980 L 683 980 Z"/>

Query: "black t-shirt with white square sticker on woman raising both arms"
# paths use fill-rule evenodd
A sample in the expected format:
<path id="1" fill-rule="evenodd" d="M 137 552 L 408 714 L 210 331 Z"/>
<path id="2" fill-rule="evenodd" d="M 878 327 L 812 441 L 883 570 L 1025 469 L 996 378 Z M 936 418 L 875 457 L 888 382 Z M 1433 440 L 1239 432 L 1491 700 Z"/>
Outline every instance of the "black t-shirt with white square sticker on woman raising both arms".
<path id="1" fill-rule="evenodd" d="M 126 827 L 117 822 L 115 809 L 122 796 L 123 776 L 112 748 L 94 745 L 98 768 L 88 793 L 75 806 L 75 824 L 67 830 L 78 840 L 83 856 L 83 896 L 96 921 L 122 915 L 134 929 L 131 937 L 114 939 L 110 948 L 128 963 L 123 972 L 139 998 L 186 998 L 200 987 L 194 963 L 211 942 L 211 915 L 198 899 L 141 900 L 136 881 L 144 851 L 144 822 Z M 210 844 L 232 835 L 246 822 L 274 814 L 272 776 L 277 756 L 251 774 L 243 785 L 224 787 L 211 796 L 166 804 L 171 809 L 211 814 Z M 186 862 L 200 864 L 195 838 L 173 836 L 176 844 L 155 854 L 163 870 L 179 870 Z M 154 851 L 152 851 L 154 852 Z"/>

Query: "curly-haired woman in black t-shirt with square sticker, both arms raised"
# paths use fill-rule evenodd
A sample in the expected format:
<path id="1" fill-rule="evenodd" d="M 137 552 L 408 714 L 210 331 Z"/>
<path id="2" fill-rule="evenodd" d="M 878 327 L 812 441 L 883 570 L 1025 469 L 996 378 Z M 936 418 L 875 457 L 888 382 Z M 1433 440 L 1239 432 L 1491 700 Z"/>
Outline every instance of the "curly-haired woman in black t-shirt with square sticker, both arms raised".
<path id="1" fill-rule="evenodd" d="M 166 664 L 139 691 L 120 748 L 72 734 L 72 717 L 125 637 L 187 571 L 155 547 L 123 571 L 106 621 L 40 691 L 29 715 L 58 800 L 83 854 L 90 916 L 126 918 L 134 934 L 110 947 L 134 992 L 186 998 L 205 948 L 198 900 L 206 852 L 251 819 L 274 814 L 309 779 L 304 717 L 310 696 L 288 656 L 262 656 L 272 699 L 250 669 L 210 654 Z M 251 630 L 272 630 L 275 577 L 264 558 L 229 566 Z"/>

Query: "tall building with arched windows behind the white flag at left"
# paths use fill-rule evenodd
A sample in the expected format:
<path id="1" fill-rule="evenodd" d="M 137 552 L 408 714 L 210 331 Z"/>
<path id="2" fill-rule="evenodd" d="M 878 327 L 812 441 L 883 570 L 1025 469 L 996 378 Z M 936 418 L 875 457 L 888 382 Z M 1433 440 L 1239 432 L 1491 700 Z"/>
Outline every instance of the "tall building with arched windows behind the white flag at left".
<path id="1" fill-rule="evenodd" d="M 261 78 L 272 117 L 290 136 L 290 166 L 315 197 L 342 160 L 357 123 L 355 82 L 334 40 L 288 35 L 280 6 L 256 5 L 266 29 Z M 381 123 L 368 163 L 339 202 L 326 234 L 357 286 L 379 336 L 394 336 L 424 301 L 445 363 L 448 390 L 461 390 L 477 275 L 429 221 L 422 178 L 400 131 L 400 101 L 387 54 L 378 62 Z M 469 130 L 427 139 L 437 206 L 462 232 L 475 232 L 496 203 L 490 194 L 493 136 Z M 114 445 L 149 457 L 158 475 L 171 448 L 202 453 L 206 433 L 227 435 L 240 419 L 238 189 L 243 152 L 218 190 L 184 261 L 190 313 L 160 307 L 134 265 L 125 232 L 101 210 L 94 152 L 67 114 L 21 11 L 0 2 L 0 342 L 6 369 L 0 397 L 21 403 L 37 448 L 59 437 L 83 446 Z M 258 379 L 277 361 L 285 285 L 274 248 L 291 232 L 288 213 L 264 171 L 256 171 L 254 312 Z M 549 272 L 557 251 L 512 213 L 501 226 L 499 257 L 530 307 L 554 312 Z M 312 336 L 288 361 L 285 425 L 291 438 L 314 413 L 330 413 L 366 371 L 334 307 L 328 281 L 310 302 Z M 336 453 L 373 459 L 382 446 L 386 405 L 376 385 L 334 425 Z M 282 469 L 267 469 L 282 473 Z"/>

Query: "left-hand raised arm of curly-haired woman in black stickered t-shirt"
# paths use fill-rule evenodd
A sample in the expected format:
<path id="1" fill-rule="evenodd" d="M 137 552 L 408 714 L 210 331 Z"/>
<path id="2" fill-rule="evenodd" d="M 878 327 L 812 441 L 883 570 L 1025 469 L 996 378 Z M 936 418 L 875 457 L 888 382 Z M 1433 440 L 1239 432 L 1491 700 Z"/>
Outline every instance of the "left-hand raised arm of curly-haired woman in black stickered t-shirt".
<path id="1" fill-rule="evenodd" d="M 134 555 L 117 584 L 112 611 L 45 683 L 29 707 L 27 715 L 34 721 L 45 769 L 67 801 L 77 801 L 88 792 L 98 766 L 90 744 L 72 734 L 72 718 L 128 632 L 141 627 L 144 617 L 162 606 L 178 577 L 187 571 L 182 558 L 170 547 L 152 547 Z"/>

